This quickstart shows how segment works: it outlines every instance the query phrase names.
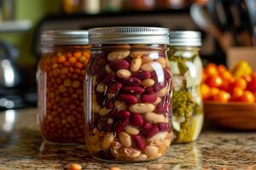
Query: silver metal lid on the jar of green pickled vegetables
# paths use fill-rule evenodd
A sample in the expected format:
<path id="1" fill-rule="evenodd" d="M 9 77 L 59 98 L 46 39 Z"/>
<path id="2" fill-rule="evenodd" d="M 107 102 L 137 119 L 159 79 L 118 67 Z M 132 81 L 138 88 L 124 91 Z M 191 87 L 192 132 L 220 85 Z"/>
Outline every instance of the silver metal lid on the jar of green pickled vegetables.
<path id="1" fill-rule="evenodd" d="M 201 32 L 198 31 L 170 31 L 170 46 L 201 47 Z"/>

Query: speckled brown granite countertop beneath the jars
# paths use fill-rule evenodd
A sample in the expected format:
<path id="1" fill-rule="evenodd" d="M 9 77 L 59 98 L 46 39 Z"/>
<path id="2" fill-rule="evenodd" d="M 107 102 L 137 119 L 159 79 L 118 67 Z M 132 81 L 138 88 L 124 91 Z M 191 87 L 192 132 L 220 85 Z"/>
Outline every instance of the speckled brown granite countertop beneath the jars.
<path id="1" fill-rule="evenodd" d="M 247 169 L 256 168 L 256 133 L 205 130 L 191 144 L 172 144 L 166 156 L 145 163 L 93 160 L 85 146 L 46 144 L 35 109 L 0 112 L 0 169 Z"/>

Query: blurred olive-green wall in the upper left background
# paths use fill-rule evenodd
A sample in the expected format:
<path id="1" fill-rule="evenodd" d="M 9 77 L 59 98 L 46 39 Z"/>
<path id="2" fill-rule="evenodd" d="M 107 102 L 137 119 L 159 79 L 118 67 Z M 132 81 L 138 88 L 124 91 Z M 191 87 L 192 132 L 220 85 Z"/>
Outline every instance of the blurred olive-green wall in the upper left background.
<path id="1" fill-rule="evenodd" d="M 0 32 L 0 39 L 15 44 L 20 50 L 19 63 L 21 65 L 34 64 L 32 54 L 32 37 L 34 27 L 45 14 L 61 11 L 61 0 L 15 0 L 15 19 L 31 20 L 32 29 L 25 32 Z"/>

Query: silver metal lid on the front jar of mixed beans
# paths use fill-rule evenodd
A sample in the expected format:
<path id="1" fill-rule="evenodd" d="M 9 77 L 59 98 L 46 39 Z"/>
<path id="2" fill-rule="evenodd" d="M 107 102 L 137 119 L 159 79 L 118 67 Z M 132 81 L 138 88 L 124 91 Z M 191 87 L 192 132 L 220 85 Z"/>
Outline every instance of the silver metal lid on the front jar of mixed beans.
<path id="1" fill-rule="evenodd" d="M 158 27 L 102 27 L 89 30 L 90 44 L 168 44 L 169 29 Z"/>

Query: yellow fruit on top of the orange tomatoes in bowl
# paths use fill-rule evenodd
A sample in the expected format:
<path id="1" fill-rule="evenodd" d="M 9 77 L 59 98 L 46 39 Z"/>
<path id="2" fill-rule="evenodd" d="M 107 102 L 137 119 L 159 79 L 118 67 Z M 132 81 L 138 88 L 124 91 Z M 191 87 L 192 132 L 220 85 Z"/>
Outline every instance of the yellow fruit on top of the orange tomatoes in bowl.
<path id="1" fill-rule="evenodd" d="M 232 75 L 236 78 L 252 74 L 253 70 L 247 61 L 238 62 L 232 69 Z"/>

